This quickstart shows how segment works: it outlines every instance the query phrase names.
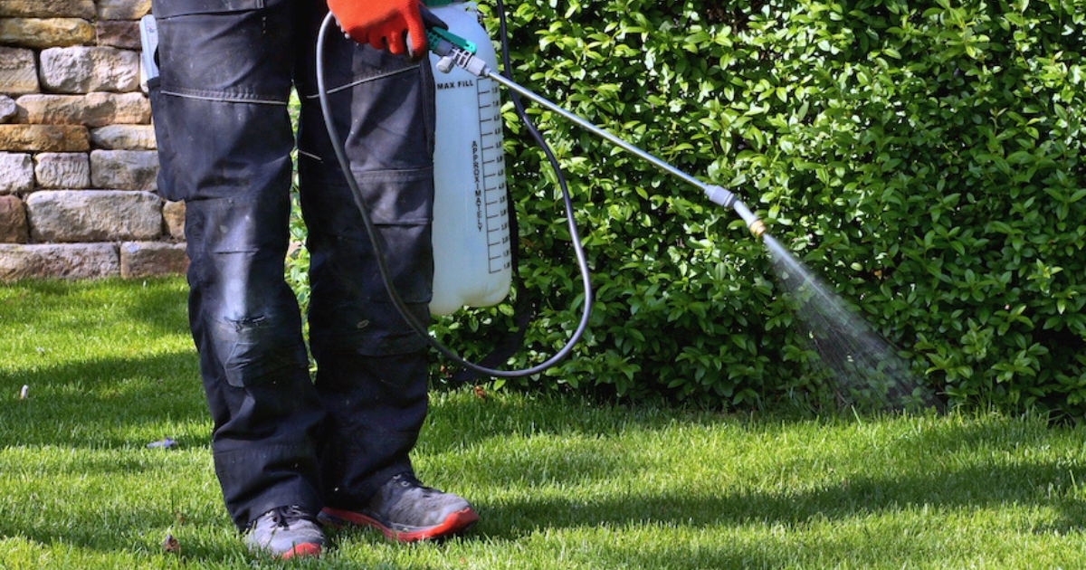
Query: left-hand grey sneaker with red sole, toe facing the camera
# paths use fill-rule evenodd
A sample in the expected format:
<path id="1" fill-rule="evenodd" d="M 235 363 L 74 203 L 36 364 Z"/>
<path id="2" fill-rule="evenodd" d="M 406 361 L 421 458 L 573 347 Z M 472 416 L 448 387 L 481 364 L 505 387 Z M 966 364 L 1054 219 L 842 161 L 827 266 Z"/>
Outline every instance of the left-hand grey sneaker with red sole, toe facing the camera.
<path id="1" fill-rule="evenodd" d="M 261 515 L 249 525 L 245 544 L 287 560 L 295 556 L 320 556 L 325 533 L 316 519 L 299 507 L 278 507 Z"/>

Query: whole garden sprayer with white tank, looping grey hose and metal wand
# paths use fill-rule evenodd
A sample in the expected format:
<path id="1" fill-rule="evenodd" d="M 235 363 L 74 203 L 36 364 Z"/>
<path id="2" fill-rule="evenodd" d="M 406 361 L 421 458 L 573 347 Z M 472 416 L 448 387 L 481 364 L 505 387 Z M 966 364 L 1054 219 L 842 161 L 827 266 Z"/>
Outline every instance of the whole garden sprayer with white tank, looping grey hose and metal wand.
<path id="1" fill-rule="evenodd" d="M 534 126 L 528 121 L 525 114 L 523 106 L 520 103 L 517 96 L 523 96 L 547 109 L 557 113 L 561 117 L 577 124 L 578 126 L 584 128 L 585 130 L 601 137 L 615 145 L 630 152 L 631 154 L 653 164 L 654 166 L 660 168 L 667 174 L 670 174 L 698 189 L 700 189 L 710 201 L 716 204 L 722 205 L 724 207 L 733 208 L 736 214 L 747 224 L 747 227 L 756 237 L 761 237 L 766 231 L 766 226 L 762 221 L 744 204 L 731 191 L 715 185 L 709 185 L 695 178 L 694 176 L 686 174 L 679 168 L 668 164 L 667 162 L 630 144 L 629 142 L 607 132 L 606 130 L 596 127 L 592 123 L 581 118 L 580 116 L 570 113 L 558 106 L 557 104 L 546 100 L 545 98 L 532 92 L 531 90 L 518 85 L 517 83 L 509 79 L 507 76 L 501 75 L 494 71 L 496 67 L 496 59 L 493 55 L 493 50 L 489 46 L 489 40 L 485 39 L 485 31 L 482 30 L 477 18 L 464 18 L 460 15 L 465 12 L 463 2 L 427 2 L 428 4 L 442 4 L 440 8 L 434 8 L 431 12 L 430 10 L 422 9 L 424 20 L 427 24 L 427 39 L 430 51 L 433 53 L 432 65 L 438 74 L 451 74 L 453 72 L 459 71 L 463 77 L 467 77 L 468 80 L 450 80 L 445 81 L 445 85 L 450 89 L 455 88 L 469 88 L 473 93 L 478 96 L 477 100 L 472 104 L 463 104 L 457 109 L 447 109 L 442 106 L 441 90 L 438 91 L 438 148 L 435 149 L 435 198 L 434 198 L 434 296 L 441 299 L 447 299 L 443 302 L 441 306 L 431 305 L 431 311 L 433 314 L 444 314 L 451 313 L 455 308 L 459 308 L 464 305 L 470 306 L 489 306 L 496 304 L 505 296 L 505 290 L 508 289 L 509 280 L 504 277 L 504 271 L 509 269 L 512 264 L 507 263 L 508 249 L 507 245 L 502 248 L 503 241 L 495 242 L 495 237 L 493 231 L 484 231 L 485 223 L 489 223 L 492 213 L 485 210 L 487 205 L 500 204 L 496 214 L 493 217 L 497 218 L 500 231 L 496 233 L 501 235 L 502 231 L 509 231 L 512 227 L 508 223 L 502 226 L 502 220 L 507 216 L 512 204 L 505 200 L 503 193 L 506 190 L 504 182 L 504 165 L 500 161 L 503 161 L 503 151 L 501 148 L 501 114 L 500 114 L 500 102 L 497 98 L 496 88 L 489 87 L 490 84 L 500 85 L 508 89 L 513 94 L 514 103 L 517 107 L 518 114 L 521 119 L 528 126 L 528 130 L 533 135 L 538 142 L 540 142 L 544 152 L 547 154 L 552 166 L 555 167 L 556 175 L 558 177 L 559 186 L 563 188 L 563 194 L 565 198 L 565 205 L 567 211 L 567 221 L 569 225 L 571 244 L 577 257 L 577 263 L 581 273 L 581 280 L 584 288 L 584 304 L 581 315 L 581 319 L 578 328 L 570 337 L 569 341 L 563 346 L 554 356 L 548 358 L 546 362 L 521 370 L 498 370 L 487 366 L 480 366 L 475 363 L 467 362 L 455 353 L 450 351 L 447 347 L 443 346 L 437 340 L 434 340 L 428 332 L 426 325 L 420 322 L 407 308 L 407 305 L 401 299 L 400 294 L 396 292 L 395 287 L 392 283 L 390 273 L 388 270 L 383 249 L 381 248 L 381 238 L 378 233 L 374 223 L 370 220 L 368 210 L 365 204 L 362 191 L 357 186 L 357 182 L 352 176 L 350 176 L 351 168 L 350 163 L 346 157 L 345 150 L 343 145 L 339 143 L 340 137 L 337 134 L 334 123 L 332 122 L 330 105 L 328 103 L 328 89 L 325 85 L 324 79 L 324 65 L 323 65 L 323 53 L 325 37 L 328 29 L 333 25 L 334 16 L 329 14 L 321 25 L 320 34 L 317 40 L 317 90 L 320 98 L 320 103 L 323 107 L 325 126 L 328 129 L 328 135 L 332 140 L 332 148 L 336 151 L 337 160 L 339 161 L 340 167 L 346 175 L 345 178 L 351 188 L 351 192 L 354 197 L 355 205 L 358 207 L 363 216 L 363 221 L 366 227 L 366 231 L 369 236 L 370 241 L 374 243 L 375 257 L 377 258 L 378 268 L 381 274 L 381 278 L 384 281 L 386 289 L 389 296 L 395 307 L 399 309 L 403 318 L 407 324 L 418 333 L 422 339 L 426 340 L 438 352 L 446 356 L 447 358 L 456 362 L 457 364 L 473 370 L 475 372 L 500 377 L 500 378 L 516 378 L 526 377 L 540 373 L 547 368 L 554 366 L 561 359 L 564 359 L 571 351 L 573 345 L 580 340 L 584 331 L 588 328 L 589 315 L 592 309 L 592 286 L 589 278 L 588 263 L 584 257 L 583 250 L 581 249 L 580 237 L 577 230 L 576 224 L 573 221 L 572 203 L 569 198 L 569 192 L 566 189 L 565 180 L 561 176 L 560 170 L 557 168 L 557 161 L 551 153 L 550 149 L 546 147 L 542 137 L 535 130 Z M 444 5 L 451 4 L 451 5 Z M 468 7 L 468 12 L 473 14 L 473 8 Z M 497 2 L 497 12 L 501 18 L 502 26 L 502 45 L 503 52 L 505 52 L 505 47 L 507 45 L 506 34 L 505 34 L 505 13 L 504 7 L 501 0 Z M 445 20 L 449 20 L 446 23 Z M 472 34 L 482 34 L 482 41 L 476 43 L 464 36 Z M 484 53 L 485 52 L 485 53 Z M 505 55 L 506 65 L 505 68 L 508 71 L 508 59 Z M 483 83 L 485 81 L 487 85 Z M 438 86 L 442 85 L 442 80 L 437 81 Z M 447 165 L 442 165 L 442 139 L 441 130 L 443 121 L 452 121 L 455 125 L 462 125 L 464 121 L 462 113 L 469 112 L 471 119 L 471 128 L 454 128 L 451 130 L 456 131 L 459 135 L 465 135 L 468 137 L 465 141 L 452 141 L 446 145 L 446 149 L 466 148 L 469 151 L 469 159 L 463 161 L 451 160 L 447 161 Z M 443 118 L 445 117 L 445 118 Z M 449 118 L 451 117 L 451 118 Z M 490 123 L 490 124 L 487 124 Z M 478 134 L 482 134 L 481 137 L 477 137 Z M 489 139 L 488 139 L 489 136 Z M 450 150 L 449 152 L 453 152 Z M 484 153 L 490 152 L 490 156 L 485 156 Z M 490 170 L 488 172 L 488 168 Z M 457 174 L 459 173 L 459 174 Z M 490 175 L 490 176 L 488 176 Z M 442 207 L 442 201 L 445 203 L 452 203 L 447 197 L 442 195 L 442 183 L 449 185 L 449 180 L 455 179 L 457 176 L 464 176 L 466 178 L 467 186 L 467 202 L 468 205 L 465 208 L 460 208 L 458 227 L 468 228 L 466 231 L 457 231 L 455 229 L 451 230 L 451 233 L 443 233 L 442 237 L 438 237 L 439 233 L 445 230 L 441 229 L 442 224 L 447 224 L 447 218 L 443 219 L 446 214 L 440 208 Z M 488 181 L 489 179 L 489 181 Z M 471 204 L 475 204 L 473 206 Z M 469 216 L 464 216 L 464 211 L 472 211 L 473 213 Z M 453 216 L 450 216 L 453 217 Z M 484 221 L 485 220 L 485 221 Z M 460 239 L 470 239 L 468 236 L 472 233 L 472 230 L 478 230 L 477 232 L 481 235 L 481 240 L 483 240 L 478 246 L 468 246 L 463 249 L 463 251 L 455 251 L 454 254 L 444 255 L 439 250 L 442 248 L 449 248 L 451 244 Z M 497 240 L 503 238 L 498 237 Z M 496 249 L 494 245 L 498 245 Z M 494 271 L 493 261 L 495 257 L 501 262 L 498 264 L 500 270 Z M 444 267 L 442 266 L 444 264 Z M 478 274 L 472 274 L 468 270 L 469 265 L 481 264 L 483 269 L 480 269 Z M 456 276 L 460 274 L 460 277 Z M 497 274 L 497 277 L 494 277 Z M 464 276 L 467 277 L 464 277 Z M 443 277 L 446 276 L 446 277 Z M 495 281 L 496 279 L 496 281 Z M 455 281 L 455 282 L 454 282 Z M 490 301 L 484 301 L 483 303 L 475 303 L 471 301 L 472 293 L 463 291 L 452 291 L 450 294 L 450 289 L 456 289 L 465 283 L 487 283 L 483 286 L 484 291 L 481 292 L 482 297 L 489 297 Z M 494 287 L 491 282 L 497 283 L 497 294 L 494 293 Z M 452 284 L 450 284 L 452 283 Z M 504 283 L 504 286 L 503 286 Z M 501 290 L 502 287 L 505 290 Z M 449 305 L 451 303 L 452 305 Z"/>

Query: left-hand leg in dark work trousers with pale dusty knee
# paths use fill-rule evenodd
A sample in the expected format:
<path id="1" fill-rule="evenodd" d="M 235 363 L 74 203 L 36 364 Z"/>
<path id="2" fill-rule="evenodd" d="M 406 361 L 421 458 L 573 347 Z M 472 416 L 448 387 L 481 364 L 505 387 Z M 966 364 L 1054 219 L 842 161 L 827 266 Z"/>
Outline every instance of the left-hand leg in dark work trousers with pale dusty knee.
<path id="1" fill-rule="evenodd" d="M 190 325 L 227 510 L 323 506 L 324 411 L 283 280 L 295 51 L 288 0 L 154 0 L 161 191 L 185 200 Z"/>

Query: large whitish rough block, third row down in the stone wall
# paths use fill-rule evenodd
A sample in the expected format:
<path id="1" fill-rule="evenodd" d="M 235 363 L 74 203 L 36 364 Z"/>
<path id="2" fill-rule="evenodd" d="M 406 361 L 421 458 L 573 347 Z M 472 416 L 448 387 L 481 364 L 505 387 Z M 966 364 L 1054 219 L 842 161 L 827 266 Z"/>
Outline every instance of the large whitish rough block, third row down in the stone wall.
<path id="1" fill-rule="evenodd" d="M 41 50 L 42 89 L 58 93 L 139 90 L 139 53 L 77 46 Z"/>

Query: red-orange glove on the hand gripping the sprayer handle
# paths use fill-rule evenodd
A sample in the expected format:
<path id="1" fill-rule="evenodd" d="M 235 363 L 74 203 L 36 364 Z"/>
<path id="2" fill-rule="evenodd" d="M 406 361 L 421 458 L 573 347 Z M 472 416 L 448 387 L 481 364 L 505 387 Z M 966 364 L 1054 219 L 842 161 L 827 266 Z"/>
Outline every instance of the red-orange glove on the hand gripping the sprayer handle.
<path id="1" fill-rule="evenodd" d="M 405 36 L 411 34 L 412 54 L 426 53 L 426 27 L 418 0 L 328 0 L 340 28 L 358 43 L 397 55 L 407 52 Z"/>

